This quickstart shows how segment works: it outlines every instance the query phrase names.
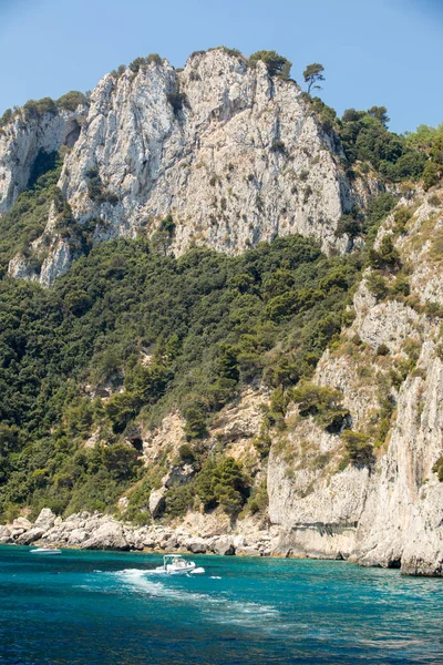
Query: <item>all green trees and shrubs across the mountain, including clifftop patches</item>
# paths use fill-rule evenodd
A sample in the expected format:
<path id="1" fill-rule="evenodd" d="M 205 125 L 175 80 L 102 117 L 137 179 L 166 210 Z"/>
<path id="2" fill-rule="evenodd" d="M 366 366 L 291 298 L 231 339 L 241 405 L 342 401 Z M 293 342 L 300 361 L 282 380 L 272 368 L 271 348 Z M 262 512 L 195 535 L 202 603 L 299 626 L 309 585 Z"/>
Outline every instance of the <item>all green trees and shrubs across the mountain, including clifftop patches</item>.
<path id="1" fill-rule="evenodd" d="M 220 48 L 240 58 L 237 50 Z M 258 51 L 248 65 L 258 61 L 269 75 L 289 80 L 291 63 L 286 58 Z M 130 70 L 136 74 L 162 62 L 151 54 L 135 59 Z M 124 71 L 121 65 L 115 75 Z M 322 72 L 318 63 L 305 70 L 308 92 L 319 88 Z M 442 127 L 421 126 L 415 134 L 399 136 L 388 130 L 384 106 L 350 109 L 338 119 L 319 98 L 310 100 L 305 93 L 305 99 L 323 130 L 341 140 L 350 180 L 371 166 L 387 181 L 423 177 L 425 188 L 442 178 Z M 39 119 L 59 109 L 74 111 L 85 101 L 71 91 L 56 102 L 30 100 L 22 113 L 27 120 Z M 187 100 L 177 84 L 167 101 L 179 119 Z M 0 127 L 19 112 L 8 110 Z M 287 153 L 279 139 L 270 151 Z M 342 257 L 326 257 L 313 241 L 295 235 L 261 243 L 237 257 L 193 248 L 174 258 L 171 215 L 159 222 L 150 242 L 141 234 L 136 241 L 92 247 L 101 222 L 75 223 L 56 187 L 60 171 L 60 155 L 41 152 L 28 190 L 0 219 L 0 521 L 23 507 L 32 507 L 33 514 L 43 505 L 64 514 L 114 510 L 125 493 L 125 518 L 148 522 L 150 492 L 159 487 L 167 453 L 145 469 L 131 441 L 141 424 L 154 428 L 173 410 L 183 416 L 186 436 L 174 463 L 187 464 L 190 472 L 186 484 L 166 492 L 166 518 L 200 505 L 207 511 L 219 508 L 230 516 L 264 511 L 266 484 L 251 490 L 246 469 L 224 452 L 223 440 L 214 443 L 207 436 L 217 411 L 260 381 L 274 390 L 254 440 L 261 460 L 269 454 L 270 433 L 287 427 L 286 411 L 293 400 L 301 418 L 312 417 L 326 431 L 341 434 L 344 466 L 373 463 L 374 446 L 384 443 L 390 428 L 391 388 L 400 387 L 413 370 L 419 342 L 406 345 L 408 359 L 380 379 L 380 412 L 371 439 L 348 429 L 350 413 L 341 392 L 316 386 L 310 378 L 324 349 L 337 344 L 349 321 L 347 305 L 364 267 L 372 268 L 367 286 L 377 299 L 410 296 L 408 269 L 394 246 L 395 237 L 406 232 L 409 208 L 395 211 L 392 235 L 385 235 L 377 248 L 377 232 L 398 198 L 385 192 L 369 203 L 367 214 L 354 208 L 343 215 L 338 235 L 359 236 L 365 245 Z M 307 203 L 313 194 L 306 182 L 309 171 L 300 171 L 298 178 Z M 117 204 L 96 167 L 89 171 L 86 182 L 92 201 Z M 215 186 L 216 180 L 210 184 Z M 42 236 L 52 202 L 56 232 L 84 256 L 51 290 L 44 290 L 9 279 L 6 272 L 8 262 L 21 253 L 38 274 L 40 265 L 32 263 L 30 244 Z M 441 205 L 433 194 L 429 202 Z M 227 207 L 226 198 L 220 206 Z M 257 206 L 262 206 L 259 195 Z M 429 305 L 430 316 L 436 311 L 433 305 Z M 389 356 L 390 350 L 380 345 L 377 354 Z M 380 360 L 390 362 L 392 356 Z M 110 393 L 106 399 L 94 397 L 103 391 Z M 322 468 L 329 460 L 319 456 L 316 464 Z M 443 480 L 442 458 L 434 471 Z"/>

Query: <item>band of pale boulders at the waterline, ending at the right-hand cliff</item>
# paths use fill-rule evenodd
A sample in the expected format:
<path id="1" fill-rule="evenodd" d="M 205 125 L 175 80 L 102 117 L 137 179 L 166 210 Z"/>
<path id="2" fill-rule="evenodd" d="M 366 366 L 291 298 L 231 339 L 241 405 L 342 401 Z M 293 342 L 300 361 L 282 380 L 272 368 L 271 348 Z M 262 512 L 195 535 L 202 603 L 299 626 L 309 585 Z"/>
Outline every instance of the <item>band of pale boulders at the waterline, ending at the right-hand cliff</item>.
<path id="1" fill-rule="evenodd" d="M 20 516 L 0 526 L 0 544 L 56 545 L 80 550 L 189 552 L 244 556 L 277 553 L 278 535 L 272 531 L 243 534 L 218 533 L 202 536 L 183 528 L 134 526 L 95 512 L 72 514 L 65 520 L 44 508 L 35 522 Z"/>

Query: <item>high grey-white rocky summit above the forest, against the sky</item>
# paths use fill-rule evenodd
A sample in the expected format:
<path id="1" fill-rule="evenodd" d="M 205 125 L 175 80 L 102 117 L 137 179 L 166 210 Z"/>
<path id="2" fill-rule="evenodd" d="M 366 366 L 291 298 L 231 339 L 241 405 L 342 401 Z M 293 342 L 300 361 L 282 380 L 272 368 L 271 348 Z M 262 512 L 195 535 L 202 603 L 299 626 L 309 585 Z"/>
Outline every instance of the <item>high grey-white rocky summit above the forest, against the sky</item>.
<path id="1" fill-rule="evenodd" d="M 344 252 L 339 218 L 356 203 L 364 207 L 381 186 L 370 177 L 364 186 L 347 180 L 339 141 L 322 129 L 293 81 L 271 78 L 264 63 L 251 68 L 224 49 L 192 55 L 179 72 L 164 60 L 107 74 L 90 101 L 59 185 L 75 223 L 95 221 L 94 242 L 159 229 L 165 254 L 194 244 L 238 254 L 300 233 L 326 252 Z M 69 121 L 75 122 L 62 114 L 43 120 L 41 130 L 21 130 L 45 137 L 27 149 L 32 158 L 41 146 L 61 145 Z M 20 173 L 29 172 L 22 162 L 31 157 L 20 160 Z M 23 188 L 27 177 L 11 192 Z M 16 194 L 4 190 L 3 209 Z M 165 231 L 167 215 L 173 224 Z M 41 282 L 50 284 L 74 257 L 53 236 Z M 10 273 L 25 274 L 20 257 Z"/>

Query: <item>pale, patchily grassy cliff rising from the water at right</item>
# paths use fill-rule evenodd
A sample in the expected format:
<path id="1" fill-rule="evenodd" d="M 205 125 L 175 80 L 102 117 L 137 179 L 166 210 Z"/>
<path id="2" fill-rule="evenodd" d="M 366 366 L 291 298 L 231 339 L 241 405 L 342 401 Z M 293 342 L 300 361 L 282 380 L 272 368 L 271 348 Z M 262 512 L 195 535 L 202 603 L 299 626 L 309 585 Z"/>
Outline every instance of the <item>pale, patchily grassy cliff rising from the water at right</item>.
<path id="1" fill-rule="evenodd" d="M 315 377 L 342 392 L 352 430 L 375 441 L 374 459 L 348 463 L 340 433 L 293 407 L 269 459 L 269 514 L 281 526 L 281 551 L 441 575 L 443 484 L 432 468 L 443 452 L 442 214 L 423 193 L 399 207 L 412 215 L 406 227 L 399 234 L 391 215 L 375 247 L 385 235 L 394 238 L 411 294 L 392 295 L 399 273 L 384 270 L 391 295 L 374 297 L 368 270 L 354 297 L 356 320 Z M 387 402 L 389 432 L 381 434 Z"/>

